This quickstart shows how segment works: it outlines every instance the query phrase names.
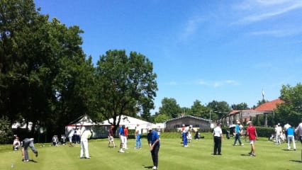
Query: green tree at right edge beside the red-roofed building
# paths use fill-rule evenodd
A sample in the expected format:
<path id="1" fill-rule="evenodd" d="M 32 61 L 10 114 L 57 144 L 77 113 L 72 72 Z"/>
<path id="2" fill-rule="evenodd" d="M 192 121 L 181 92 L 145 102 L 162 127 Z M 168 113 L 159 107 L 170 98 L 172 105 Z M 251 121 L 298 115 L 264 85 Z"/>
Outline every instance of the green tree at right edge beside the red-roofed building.
<path id="1" fill-rule="evenodd" d="M 284 103 L 277 105 L 275 121 L 283 125 L 298 125 L 302 122 L 302 84 L 283 85 L 280 92 Z"/>

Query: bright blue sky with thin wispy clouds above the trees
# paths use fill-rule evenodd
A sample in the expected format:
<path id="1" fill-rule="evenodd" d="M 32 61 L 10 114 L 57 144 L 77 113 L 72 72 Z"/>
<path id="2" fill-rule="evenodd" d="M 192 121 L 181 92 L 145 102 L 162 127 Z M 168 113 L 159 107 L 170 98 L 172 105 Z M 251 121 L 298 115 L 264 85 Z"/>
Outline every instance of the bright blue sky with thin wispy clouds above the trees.
<path id="1" fill-rule="evenodd" d="M 35 0 L 41 13 L 79 26 L 94 63 L 107 50 L 154 64 L 162 98 L 252 107 L 302 80 L 302 1 Z M 155 111 L 152 111 L 153 113 Z"/>

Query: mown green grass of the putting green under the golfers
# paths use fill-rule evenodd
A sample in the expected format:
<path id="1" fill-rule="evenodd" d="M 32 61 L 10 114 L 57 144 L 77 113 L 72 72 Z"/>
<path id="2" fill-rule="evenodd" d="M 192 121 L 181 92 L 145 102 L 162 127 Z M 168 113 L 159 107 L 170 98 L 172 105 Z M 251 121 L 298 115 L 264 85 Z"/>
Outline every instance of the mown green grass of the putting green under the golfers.
<path id="1" fill-rule="evenodd" d="M 296 142 L 296 151 L 286 151 L 286 143 L 274 145 L 262 139 L 256 142 L 257 157 L 247 156 L 250 145 L 234 147 L 233 138 L 223 140 L 222 156 L 214 156 L 211 135 L 204 134 L 205 139 L 193 140 L 189 147 L 181 147 L 178 135 L 166 138 L 161 135 L 159 169 L 301 169 L 301 144 Z M 115 139 L 119 144 L 118 139 Z M 142 149 L 133 149 L 135 140 L 128 141 L 126 153 L 118 153 L 118 148 L 108 148 L 107 140 L 90 140 L 91 159 L 79 159 L 80 147 L 66 145 L 50 147 L 50 144 L 35 144 L 39 156 L 29 151 L 30 159 L 35 162 L 21 162 L 21 152 L 12 151 L 11 145 L 0 145 L 0 169 L 149 169 L 152 159 L 147 141 L 142 139 Z"/>

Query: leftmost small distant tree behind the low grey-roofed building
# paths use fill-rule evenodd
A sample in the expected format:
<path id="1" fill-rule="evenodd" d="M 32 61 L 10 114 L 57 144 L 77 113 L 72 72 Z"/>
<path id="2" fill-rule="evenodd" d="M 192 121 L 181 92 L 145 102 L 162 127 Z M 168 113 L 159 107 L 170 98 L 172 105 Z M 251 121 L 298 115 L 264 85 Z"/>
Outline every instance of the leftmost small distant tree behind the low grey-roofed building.
<path id="1" fill-rule="evenodd" d="M 171 118 L 177 118 L 183 111 L 181 111 L 179 104 L 174 98 L 163 98 L 159 113 L 168 115 Z"/>

